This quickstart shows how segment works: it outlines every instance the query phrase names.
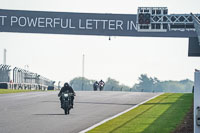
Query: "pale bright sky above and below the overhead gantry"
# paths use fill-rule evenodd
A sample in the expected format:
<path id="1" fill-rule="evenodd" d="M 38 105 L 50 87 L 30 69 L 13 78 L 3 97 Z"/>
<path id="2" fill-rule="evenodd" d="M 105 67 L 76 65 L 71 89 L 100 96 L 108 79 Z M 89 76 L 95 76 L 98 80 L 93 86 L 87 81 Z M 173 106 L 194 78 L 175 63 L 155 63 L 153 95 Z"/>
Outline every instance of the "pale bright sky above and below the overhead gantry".
<path id="1" fill-rule="evenodd" d="M 0 0 L 0 9 L 137 14 L 138 7 L 168 7 L 169 14 L 200 13 L 199 0 Z M 0 64 L 25 68 L 55 81 L 82 76 L 133 86 L 141 74 L 194 80 L 198 57 L 188 57 L 187 38 L 109 37 L 0 33 Z"/>

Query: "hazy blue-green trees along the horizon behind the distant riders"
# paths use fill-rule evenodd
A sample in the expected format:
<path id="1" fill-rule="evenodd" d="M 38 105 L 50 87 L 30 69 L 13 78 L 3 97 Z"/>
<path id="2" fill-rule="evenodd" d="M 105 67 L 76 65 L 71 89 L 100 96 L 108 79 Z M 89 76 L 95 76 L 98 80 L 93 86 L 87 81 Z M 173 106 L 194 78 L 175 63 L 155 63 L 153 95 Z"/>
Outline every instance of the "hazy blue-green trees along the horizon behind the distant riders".
<path id="1" fill-rule="evenodd" d="M 70 81 L 74 90 L 92 91 L 93 84 L 96 80 L 76 77 Z M 180 81 L 160 81 L 156 77 L 148 77 L 146 74 L 141 74 L 138 78 L 139 83 L 132 87 L 120 84 L 119 81 L 108 78 L 105 81 L 104 91 L 133 91 L 133 92 L 174 92 L 188 93 L 192 92 L 194 82 L 189 79 Z"/>

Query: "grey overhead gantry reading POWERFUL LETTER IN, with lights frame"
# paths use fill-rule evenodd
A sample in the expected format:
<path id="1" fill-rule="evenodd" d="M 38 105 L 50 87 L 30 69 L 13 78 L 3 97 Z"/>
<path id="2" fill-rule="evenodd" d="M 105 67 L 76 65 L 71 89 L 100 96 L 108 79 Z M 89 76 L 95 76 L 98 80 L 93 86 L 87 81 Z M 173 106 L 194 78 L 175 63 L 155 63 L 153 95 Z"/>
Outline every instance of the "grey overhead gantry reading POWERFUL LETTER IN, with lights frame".
<path id="1" fill-rule="evenodd" d="M 139 7 L 137 14 L 0 10 L 0 32 L 189 38 L 189 55 L 200 56 L 193 18 L 166 7 Z M 192 45 L 193 44 L 193 45 Z M 199 48 L 199 49 L 198 49 Z M 197 51 L 193 51 L 193 49 Z"/>

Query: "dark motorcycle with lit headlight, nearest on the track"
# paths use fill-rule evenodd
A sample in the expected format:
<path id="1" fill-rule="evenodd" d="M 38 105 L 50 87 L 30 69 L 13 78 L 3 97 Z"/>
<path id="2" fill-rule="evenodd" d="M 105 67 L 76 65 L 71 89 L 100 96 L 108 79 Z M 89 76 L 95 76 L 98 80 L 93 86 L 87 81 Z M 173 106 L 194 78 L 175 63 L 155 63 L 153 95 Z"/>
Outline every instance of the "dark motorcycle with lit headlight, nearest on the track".
<path id="1" fill-rule="evenodd" d="M 61 99 L 62 99 L 61 108 L 64 109 L 65 115 L 69 114 L 70 109 L 72 108 L 72 96 L 74 96 L 73 93 L 63 92 L 61 94 Z"/>

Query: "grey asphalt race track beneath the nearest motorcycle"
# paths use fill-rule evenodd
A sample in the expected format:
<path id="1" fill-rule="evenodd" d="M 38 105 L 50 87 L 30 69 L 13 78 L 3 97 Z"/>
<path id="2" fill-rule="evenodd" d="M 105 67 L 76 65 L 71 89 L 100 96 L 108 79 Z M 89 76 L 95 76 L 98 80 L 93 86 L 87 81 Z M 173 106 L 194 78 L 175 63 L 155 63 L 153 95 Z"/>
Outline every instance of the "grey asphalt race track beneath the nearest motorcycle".
<path id="1" fill-rule="evenodd" d="M 0 94 L 0 133 L 78 133 L 158 93 L 77 91 L 64 115 L 58 91 Z"/>

